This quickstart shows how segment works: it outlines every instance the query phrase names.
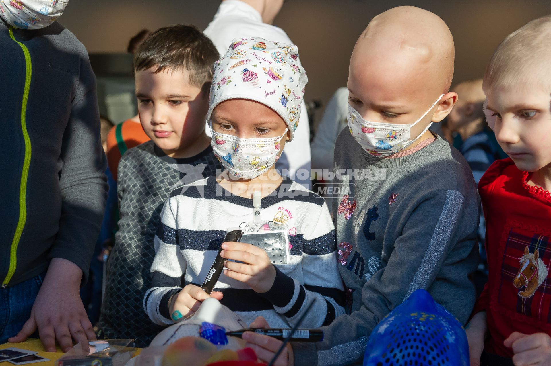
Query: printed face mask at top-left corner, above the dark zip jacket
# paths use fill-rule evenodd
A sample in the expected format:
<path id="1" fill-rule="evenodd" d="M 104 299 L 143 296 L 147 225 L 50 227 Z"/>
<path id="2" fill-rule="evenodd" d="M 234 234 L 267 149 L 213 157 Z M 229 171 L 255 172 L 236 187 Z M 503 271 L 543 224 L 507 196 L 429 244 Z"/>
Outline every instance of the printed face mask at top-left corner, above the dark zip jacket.
<path id="1" fill-rule="evenodd" d="M 44 28 L 63 14 L 69 0 L 0 0 L 0 17 L 15 28 Z"/>

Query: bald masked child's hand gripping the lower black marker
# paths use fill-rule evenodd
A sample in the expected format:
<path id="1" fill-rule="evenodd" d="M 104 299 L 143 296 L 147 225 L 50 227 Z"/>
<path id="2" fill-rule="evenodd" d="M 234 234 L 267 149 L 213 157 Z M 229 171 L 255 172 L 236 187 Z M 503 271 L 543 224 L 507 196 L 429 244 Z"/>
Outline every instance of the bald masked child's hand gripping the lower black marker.
<path id="1" fill-rule="evenodd" d="M 251 328 L 269 328 L 268 322 L 262 316 L 258 316 L 250 325 Z M 268 363 L 275 356 L 279 347 L 282 345 L 282 341 L 272 338 L 269 336 L 264 336 L 261 334 L 256 334 L 255 332 L 245 332 L 241 338 L 247 342 L 245 347 L 251 347 L 255 350 L 256 355 L 262 361 Z M 287 347 L 279 354 L 274 366 L 293 366 L 293 348 L 289 343 Z"/>

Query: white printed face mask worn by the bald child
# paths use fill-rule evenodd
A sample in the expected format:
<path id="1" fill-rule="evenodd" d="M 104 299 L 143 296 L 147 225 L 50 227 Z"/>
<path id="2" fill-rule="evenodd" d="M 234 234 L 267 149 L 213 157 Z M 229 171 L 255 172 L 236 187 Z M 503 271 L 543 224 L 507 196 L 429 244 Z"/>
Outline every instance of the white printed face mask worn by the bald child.
<path id="1" fill-rule="evenodd" d="M 430 125 L 433 124 L 433 122 L 430 122 L 416 138 L 410 138 L 411 128 L 433 109 L 442 96 L 444 94 L 438 97 L 436 102 L 430 106 L 423 116 L 410 124 L 365 121 L 358 111 L 348 105 L 348 128 L 350 134 L 354 136 L 365 151 L 373 156 L 384 157 L 396 154 L 396 152 L 406 149 L 415 140 L 420 138 L 429 129 Z"/>

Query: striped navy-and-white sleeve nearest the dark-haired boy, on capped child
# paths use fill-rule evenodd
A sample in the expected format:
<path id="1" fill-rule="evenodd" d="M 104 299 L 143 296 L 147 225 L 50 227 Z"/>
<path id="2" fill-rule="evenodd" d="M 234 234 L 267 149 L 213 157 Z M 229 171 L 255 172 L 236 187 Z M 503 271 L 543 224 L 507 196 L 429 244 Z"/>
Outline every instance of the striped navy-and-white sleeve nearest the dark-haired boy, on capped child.
<path id="1" fill-rule="evenodd" d="M 170 319 L 168 302 L 173 294 L 181 290 L 182 269 L 186 268 L 186 260 L 177 243 L 176 215 L 172 210 L 174 199 L 169 198 L 161 211 L 154 241 L 152 282 L 143 300 L 145 313 L 159 325 L 174 323 Z"/>

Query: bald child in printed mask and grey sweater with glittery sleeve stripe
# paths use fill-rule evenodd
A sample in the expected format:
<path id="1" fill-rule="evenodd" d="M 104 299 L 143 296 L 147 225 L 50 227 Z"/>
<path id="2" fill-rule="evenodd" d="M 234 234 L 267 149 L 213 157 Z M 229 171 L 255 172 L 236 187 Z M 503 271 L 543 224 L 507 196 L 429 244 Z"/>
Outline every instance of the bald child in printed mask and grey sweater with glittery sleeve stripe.
<path id="1" fill-rule="evenodd" d="M 460 152 L 428 130 L 457 101 L 448 92 L 453 58 L 444 21 L 415 7 L 377 15 L 356 42 L 348 128 L 334 152 L 343 192 L 333 207 L 338 266 L 350 315 L 322 327 L 322 342 L 293 343 L 276 365 L 361 364 L 372 329 L 419 288 L 466 323 L 479 201 Z M 263 359 L 280 345 L 244 338 Z"/>

